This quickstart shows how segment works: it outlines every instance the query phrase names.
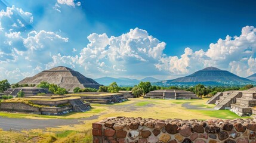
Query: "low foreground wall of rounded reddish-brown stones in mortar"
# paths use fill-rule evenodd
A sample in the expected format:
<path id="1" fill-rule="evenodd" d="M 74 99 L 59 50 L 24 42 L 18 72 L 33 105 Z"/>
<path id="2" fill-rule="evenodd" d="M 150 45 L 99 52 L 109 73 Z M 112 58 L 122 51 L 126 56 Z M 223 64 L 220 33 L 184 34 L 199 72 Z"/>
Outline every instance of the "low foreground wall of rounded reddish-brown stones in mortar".
<path id="1" fill-rule="evenodd" d="M 256 143 L 252 119 L 206 120 L 110 117 L 92 124 L 93 142 Z"/>

